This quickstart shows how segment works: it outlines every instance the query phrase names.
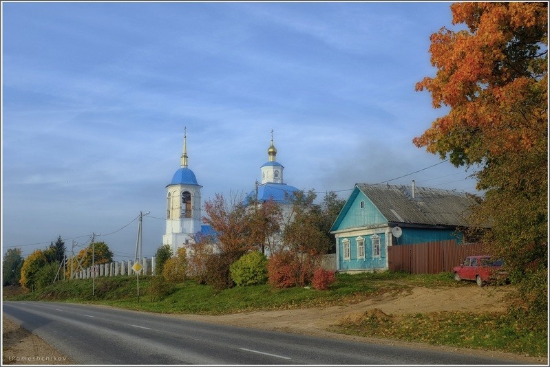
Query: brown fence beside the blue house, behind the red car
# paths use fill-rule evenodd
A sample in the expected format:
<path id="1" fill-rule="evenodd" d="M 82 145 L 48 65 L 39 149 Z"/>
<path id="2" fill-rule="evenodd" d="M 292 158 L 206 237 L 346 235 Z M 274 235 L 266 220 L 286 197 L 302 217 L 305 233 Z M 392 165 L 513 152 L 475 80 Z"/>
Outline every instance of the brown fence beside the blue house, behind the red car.
<path id="1" fill-rule="evenodd" d="M 484 255 L 480 243 L 457 245 L 455 240 L 394 245 L 388 247 L 388 263 L 392 271 L 410 274 L 438 274 L 452 271 L 466 256 Z"/>

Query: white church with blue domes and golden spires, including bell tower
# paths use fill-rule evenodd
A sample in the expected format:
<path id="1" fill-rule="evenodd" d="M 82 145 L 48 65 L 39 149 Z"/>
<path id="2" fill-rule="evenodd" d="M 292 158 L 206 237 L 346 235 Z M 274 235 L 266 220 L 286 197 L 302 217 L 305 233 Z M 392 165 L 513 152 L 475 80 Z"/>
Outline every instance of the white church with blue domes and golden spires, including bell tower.
<path id="1" fill-rule="evenodd" d="M 248 206 L 254 201 L 265 203 L 273 200 L 282 208 L 283 216 L 290 216 L 294 193 L 299 191 L 294 186 L 284 183 L 284 166 L 276 161 L 277 149 L 273 144 L 271 131 L 271 145 L 267 150 L 268 162 L 261 167 L 262 183 L 256 182 L 256 187 L 242 201 Z M 183 135 L 183 153 L 181 166 L 173 174 L 171 182 L 166 186 L 166 234 L 162 236 L 162 245 L 169 245 L 173 254 L 178 247 L 193 243 L 197 234 L 213 235 L 210 225 L 202 224 L 202 202 L 200 189 L 195 173 L 188 167 L 187 156 L 187 128 Z"/>

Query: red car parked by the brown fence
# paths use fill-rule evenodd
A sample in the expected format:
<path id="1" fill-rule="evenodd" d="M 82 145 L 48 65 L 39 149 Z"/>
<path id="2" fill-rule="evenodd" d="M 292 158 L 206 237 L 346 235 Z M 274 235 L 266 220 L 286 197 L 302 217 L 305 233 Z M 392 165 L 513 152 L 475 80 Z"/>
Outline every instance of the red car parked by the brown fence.
<path id="1" fill-rule="evenodd" d="M 503 260 L 493 259 L 489 255 L 468 256 L 461 266 L 454 267 L 455 280 L 475 280 L 478 286 L 483 287 L 486 282 L 497 278 L 506 278 L 502 269 Z"/>

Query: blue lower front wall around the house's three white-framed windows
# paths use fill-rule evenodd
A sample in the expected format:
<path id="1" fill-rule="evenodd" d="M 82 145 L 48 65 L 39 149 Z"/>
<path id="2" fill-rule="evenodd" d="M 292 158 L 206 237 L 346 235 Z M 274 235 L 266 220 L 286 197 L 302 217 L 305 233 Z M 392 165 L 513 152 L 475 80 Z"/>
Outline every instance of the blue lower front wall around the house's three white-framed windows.
<path id="1" fill-rule="evenodd" d="M 385 269 L 386 268 L 386 249 L 385 249 L 385 233 L 377 233 L 380 237 L 380 257 L 376 258 L 372 256 L 372 234 L 361 234 L 361 237 L 365 240 L 365 258 L 357 258 L 357 237 L 349 236 L 339 238 L 338 252 L 339 257 L 339 269 L 340 270 L 372 270 L 372 269 Z M 350 260 L 343 260 L 343 240 L 347 238 L 350 240 Z"/>

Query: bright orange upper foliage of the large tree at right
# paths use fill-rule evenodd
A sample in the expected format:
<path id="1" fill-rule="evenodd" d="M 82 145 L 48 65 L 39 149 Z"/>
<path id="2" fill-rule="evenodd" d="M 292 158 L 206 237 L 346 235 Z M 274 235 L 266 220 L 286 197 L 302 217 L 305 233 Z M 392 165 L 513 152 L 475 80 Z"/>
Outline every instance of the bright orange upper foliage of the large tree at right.
<path id="1" fill-rule="evenodd" d="M 447 115 L 414 138 L 416 146 L 451 162 L 480 163 L 529 149 L 547 130 L 547 3 L 454 3 L 454 25 L 432 34 L 434 78 L 416 90 L 432 93 Z"/>

